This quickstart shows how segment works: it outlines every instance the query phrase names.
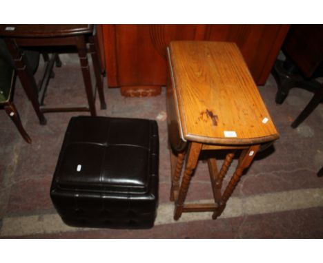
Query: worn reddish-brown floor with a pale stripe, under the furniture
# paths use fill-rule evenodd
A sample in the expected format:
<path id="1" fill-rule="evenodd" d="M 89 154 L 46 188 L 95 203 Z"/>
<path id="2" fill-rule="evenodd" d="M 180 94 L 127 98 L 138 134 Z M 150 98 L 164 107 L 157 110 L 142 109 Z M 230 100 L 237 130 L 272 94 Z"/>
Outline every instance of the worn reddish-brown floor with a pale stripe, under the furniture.
<path id="1" fill-rule="evenodd" d="M 77 57 L 61 56 L 63 67 L 55 69 L 45 103 L 86 105 Z M 105 80 L 106 85 L 106 80 Z M 63 224 L 49 197 L 63 135 L 71 116 L 79 113 L 46 114 L 47 125 L 37 116 L 19 81 L 14 102 L 26 131 L 28 145 L 4 111 L 0 112 L 0 237 L 1 238 L 323 238 L 323 178 L 315 173 L 323 165 L 323 105 L 297 129 L 293 119 L 312 94 L 291 90 L 283 105 L 275 104 L 276 83 L 269 76 L 259 87 L 268 111 L 280 132 L 271 151 L 255 158 L 217 220 L 211 213 L 184 213 L 173 220 L 169 201 L 170 156 L 165 90 L 152 98 L 124 98 L 119 89 L 105 87 L 106 110 L 99 116 L 157 119 L 159 125 L 159 208 L 155 227 L 148 230 L 79 229 Z M 88 113 L 86 113 L 88 115 Z M 222 160 L 219 160 L 221 165 Z M 231 165 L 224 185 L 237 160 Z M 189 202 L 211 200 L 207 165 L 199 162 L 188 191 Z"/>

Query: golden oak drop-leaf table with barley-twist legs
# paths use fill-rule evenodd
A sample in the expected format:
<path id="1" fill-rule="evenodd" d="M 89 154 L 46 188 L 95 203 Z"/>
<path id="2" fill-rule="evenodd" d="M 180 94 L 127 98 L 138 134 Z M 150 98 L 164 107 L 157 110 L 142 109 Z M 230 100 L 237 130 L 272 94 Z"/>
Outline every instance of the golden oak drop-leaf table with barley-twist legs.
<path id="1" fill-rule="evenodd" d="M 235 43 L 172 42 L 168 69 L 170 200 L 175 202 L 174 218 L 178 220 L 183 212 L 213 211 L 216 219 L 260 146 L 273 142 L 279 134 Z M 208 159 L 215 203 L 185 204 L 201 151 L 224 149 L 228 154 L 219 171 L 217 160 Z M 238 149 L 242 153 L 237 168 L 222 194 L 222 181 Z"/>

